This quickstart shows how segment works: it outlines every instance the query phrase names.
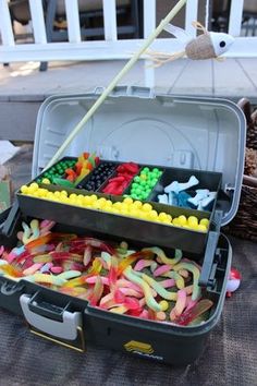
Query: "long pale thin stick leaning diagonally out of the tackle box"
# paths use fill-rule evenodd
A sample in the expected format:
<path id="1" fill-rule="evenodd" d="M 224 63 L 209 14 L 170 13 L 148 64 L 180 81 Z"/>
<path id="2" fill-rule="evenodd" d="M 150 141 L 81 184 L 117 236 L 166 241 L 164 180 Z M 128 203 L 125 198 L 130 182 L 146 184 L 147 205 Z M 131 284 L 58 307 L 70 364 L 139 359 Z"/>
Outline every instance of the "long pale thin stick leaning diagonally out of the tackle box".
<path id="1" fill-rule="evenodd" d="M 122 77 L 133 68 L 133 65 L 137 62 L 139 57 L 145 52 L 145 50 L 152 44 L 152 41 L 157 38 L 157 36 L 162 32 L 162 29 L 167 26 L 168 23 L 179 13 L 179 11 L 185 5 L 186 0 L 179 0 L 174 8 L 168 13 L 168 15 L 160 22 L 158 27 L 149 35 L 149 37 L 144 41 L 140 49 L 135 52 L 128 62 L 124 65 L 124 68 L 119 72 L 119 74 L 113 79 L 113 81 L 109 84 L 109 86 L 102 92 L 100 97 L 96 100 L 93 107 L 87 111 L 84 118 L 77 123 L 77 125 L 72 130 L 69 136 L 63 142 L 62 146 L 54 154 L 52 159 L 48 162 L 47 168 L 52 166 L 63 154 L 65 148 L 71 144 L 73 138 L 79 133 L 79 131 L 85 128 L 85 124 L 89 121 L 93 114 L 97 111 L 97 109 L 102 105 L 108 95 L 113 91 L 117 84 L 122 80 Z M 45 169 L 45 170 L 46 170 Z"/>

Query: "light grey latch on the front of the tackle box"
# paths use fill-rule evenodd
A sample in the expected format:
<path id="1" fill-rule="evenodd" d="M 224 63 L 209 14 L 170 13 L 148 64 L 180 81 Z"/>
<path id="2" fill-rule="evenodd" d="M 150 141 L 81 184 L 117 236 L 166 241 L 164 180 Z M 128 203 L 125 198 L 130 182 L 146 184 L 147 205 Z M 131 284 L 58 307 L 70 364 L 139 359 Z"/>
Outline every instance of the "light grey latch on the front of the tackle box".
<path id="1" fill-rule="evenodd" d="M 70 312 L 63 310 L 62 322 L 54 321 L 49 316 L 40 315 L 42 305 L 38 304 L 35 297 L 29 294 L 22 294 L 20 297 L 20 304 L 24 314 L 26 322 L 30 327 L 36 328 L 47 335 L 64 339 L 64 340 L 76 340 L 78 336 L 78 330 L 82 330 L 82 313 L 81 312 Z M 33 311 L 30 307 L 33 306 Z M 54 305 L 52 305 L 54 307 Z M 52 315 L 53 311 L 45 309 L 45 314 Z M 39 335 L 39 334 L 38 334 Z"/>

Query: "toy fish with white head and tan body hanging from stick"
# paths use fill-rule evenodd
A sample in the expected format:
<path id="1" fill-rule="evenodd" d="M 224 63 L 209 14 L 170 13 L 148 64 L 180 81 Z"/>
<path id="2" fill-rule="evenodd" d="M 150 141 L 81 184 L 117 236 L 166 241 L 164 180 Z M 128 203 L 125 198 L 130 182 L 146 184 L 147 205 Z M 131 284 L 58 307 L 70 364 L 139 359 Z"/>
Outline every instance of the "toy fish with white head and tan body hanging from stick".
<path id="1" fill-rule="evenodd" d="M 208 32 L 199 22 L 193 22 L 192 24 L 196 29 L 203 32 L 196 38 L 192 38 L 184 29 L 172 24 L 168 24 L 164 27 L 167 32 L 185 44 L 185 49 L 174 53 L 147 51 L 150 59 L 155 62 L 155 67 L 160 67 L 184 56 L 192 60 L 219 59 L 234 43 L 234 38 L 229 34 Z"/>

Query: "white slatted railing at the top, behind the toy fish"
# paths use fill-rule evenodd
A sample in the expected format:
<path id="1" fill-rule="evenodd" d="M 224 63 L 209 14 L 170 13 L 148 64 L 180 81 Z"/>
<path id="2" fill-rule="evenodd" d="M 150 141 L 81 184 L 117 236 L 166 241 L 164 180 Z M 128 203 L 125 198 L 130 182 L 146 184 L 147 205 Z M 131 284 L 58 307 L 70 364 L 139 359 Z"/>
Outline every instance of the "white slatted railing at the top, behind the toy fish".
<path id="1" fill-rule="evenodd" d="M 86 0 L 85 0 L 86 1 Z M 209 0 L 211 1 L 211 0 Z M 213 0 L 212 0 L 213 1 Z M 102 0 L 105 40 L 82 41 L 77 0 L 65 0 L 69 41 L 47 43 L 41 0 L 29 0 L 34 41 L 16 44 L 13 36 L 8 0 L 0 0 L 0 62 L 52 60 L 126 59 L 137 50 L 142 39 L 118 39 L 115 0 Z M 229 33 L 236 37 L 227 57 L 257 57 L 257 37 L 240 37 L 244 0 L 231 0 Z M 198 0 L 187 0 L 185 29 L 192 36 L 196 31 Z M 156 0 L 144 0 L 144 38 L 156 27 Z M 158 38 L 154 49 L 174 52 L 183 49 L 175 38 Z"/>

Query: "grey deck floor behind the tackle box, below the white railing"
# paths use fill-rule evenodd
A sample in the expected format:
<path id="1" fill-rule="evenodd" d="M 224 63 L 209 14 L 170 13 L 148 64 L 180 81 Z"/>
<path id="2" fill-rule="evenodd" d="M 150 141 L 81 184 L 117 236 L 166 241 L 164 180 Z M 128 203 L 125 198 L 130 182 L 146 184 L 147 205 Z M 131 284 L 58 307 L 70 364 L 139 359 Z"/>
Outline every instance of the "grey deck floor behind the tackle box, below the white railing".
<path id="1" fill-rule="evenodd" d="M 60 93 L 85 93 L 107 86 L 125 61 L 51 62 L 46 72 L 38 62 L 11 63 L 0 70 L 0 137 L 34 141 L 36 117 L 42 100 Z M 139 61 L 120 84 L 144 86 L 145 62 Z M 176 60 L 155 71 L 156 92 L 247 97 L 257 102 L 257 59 Z M 13 113 L 15 111 L 15 114 Z"/>

